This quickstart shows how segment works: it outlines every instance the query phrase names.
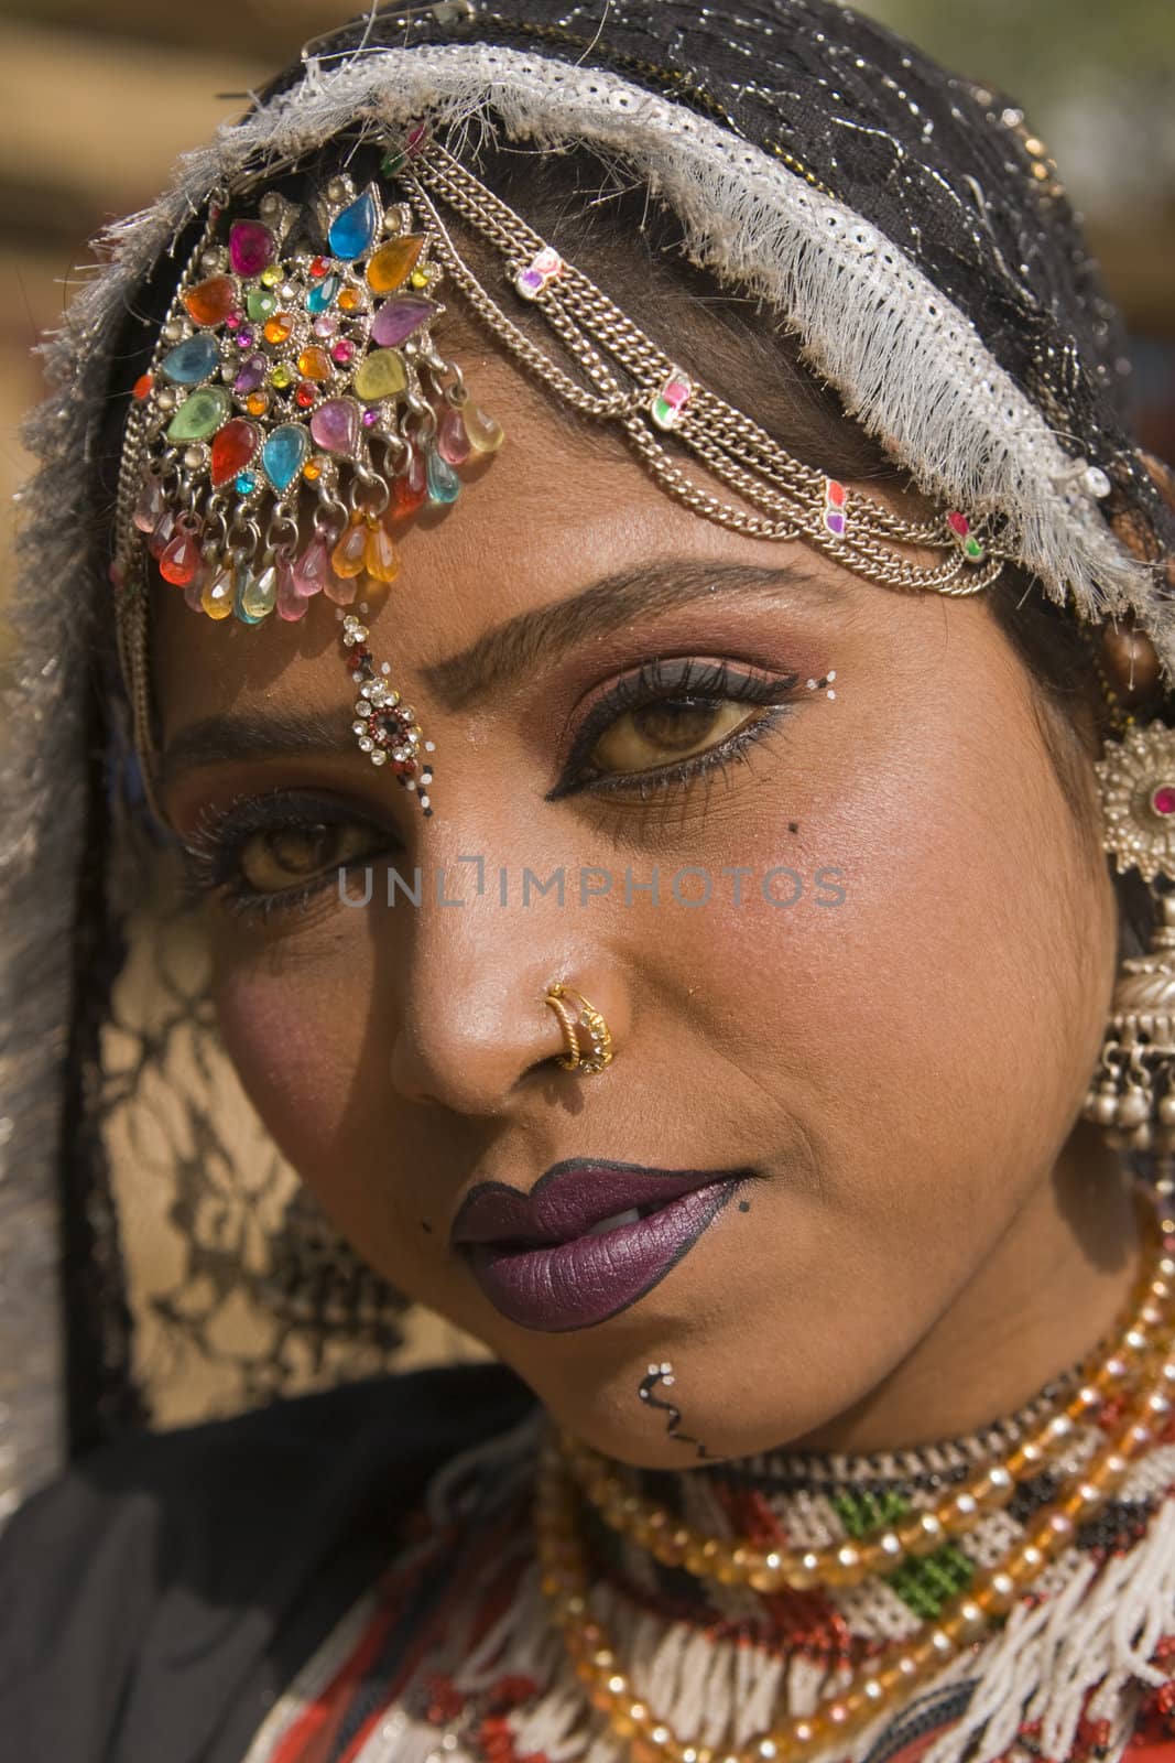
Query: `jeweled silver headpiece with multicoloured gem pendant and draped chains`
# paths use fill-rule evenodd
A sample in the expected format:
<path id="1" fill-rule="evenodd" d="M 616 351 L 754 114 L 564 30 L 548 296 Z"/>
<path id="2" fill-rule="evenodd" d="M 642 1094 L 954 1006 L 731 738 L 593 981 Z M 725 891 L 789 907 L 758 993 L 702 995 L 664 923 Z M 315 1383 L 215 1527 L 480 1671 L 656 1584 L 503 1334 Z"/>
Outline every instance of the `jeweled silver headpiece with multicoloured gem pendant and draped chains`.
<path id="1" fill-rule="evenodd" d="M 312 205 L 259 190 L 252 215 L 227 189 L 208 205 L 127 425 L 111 577 L 132 703 L 146 705 L 148 554 L 213 619 L 296 621 L 319 592 L 340 606 L 363 594 L 366 610 L 400 573 L 395 527 L 425 504 L 451 504 L 454 467 L 497 451 L 500 425 L 439 353 L 446 280 L 555 397 L 617 423 L 654 478 L 710 520 L 802 538 L 870 580 L 944 594 L 978 592 L 1013 555 L 999 517 L 909 520 L 798 460 L 691 379 L 425 122 L 388 146 L 382 175 L 361 189 L 338 175 Z M 497 294 L 462 257 L 453 217 L 497 252 Z M 861 236 L 858 249 L 874 243 Z M 562 360 L 518 326 L 507 300 L 543 314 Z M 1108 494 L 1096 467 L 1071 476 L 1087 495 Z M 916 547 L 942 555 L 914 562 Z M 349 617 L 354 735 L 430 815 L 423 753 L 433 744 L 386 679 L 389 665 L 373 672 L 365 638 Z M 150 740 L 146 718 L 139 740 Z"/>

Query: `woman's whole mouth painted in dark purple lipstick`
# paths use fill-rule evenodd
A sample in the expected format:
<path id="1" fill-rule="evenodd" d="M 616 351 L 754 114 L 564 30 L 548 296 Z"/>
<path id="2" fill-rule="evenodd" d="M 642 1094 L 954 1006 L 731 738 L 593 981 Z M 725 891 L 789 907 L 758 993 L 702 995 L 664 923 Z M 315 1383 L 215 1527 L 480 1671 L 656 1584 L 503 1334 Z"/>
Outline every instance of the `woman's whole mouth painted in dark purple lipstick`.
<path id="1" fill-rule="evenodd" d="M 449 1243 L 511 1322 L 550 1333 L 590 1328 L 652 1291 L 750 1174 L 567 1158 L 530 1194 L 477 1183 Z"/>

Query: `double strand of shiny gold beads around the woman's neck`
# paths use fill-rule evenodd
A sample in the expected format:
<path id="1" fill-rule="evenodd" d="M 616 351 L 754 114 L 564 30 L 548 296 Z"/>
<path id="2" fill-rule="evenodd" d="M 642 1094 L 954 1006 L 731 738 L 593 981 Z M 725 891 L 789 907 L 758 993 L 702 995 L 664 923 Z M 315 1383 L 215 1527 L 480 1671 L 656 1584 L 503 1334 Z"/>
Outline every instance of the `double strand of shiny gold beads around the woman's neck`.
<path id="1" fill-rule="evenodd" d="M 1008 1550 L 994 1567 L 983 1569 L 965 1594 L 951 1599 L 934 1622 L 921 1625 L 913 1641 L 888 1647 L 868 1666 L 863 1666 L 849 1684 L 826 1694 L 812 1714 L 789 1717 L 736 1749 L 715 1751 L 675 1733 L 655 1710 L 636 1696 L 613 1652 L 608 1633 L 588 1611 L 590 1580 L 576 1530 L 576 1476 L 567 1467 L 565 1449 L 560 1447 L 558 1439 L 548 1435 L 539 1454 L 536 1486 L 543 1592 L 548 1597 L 553 1622 L 564 1634 L 574 1671 L 587 1685 L 592 1707 L 604 1714 L 615 1737 L 629 1740 L 632 1763 L 793 1763 L 793 1759 L 798 1763 L 798 1759 L 810 1759 L 828 1740 L 847 1738 L 898 1698 L 909 1694 L 935 1670 L 948 1664 L 962 1648 L 987 1638 L 990 1625 L 1031 1590 L 1057 1551 L 1071 1543 L 1076 1527 L 1115 1493 L 1133 1460 L 1152 1442 L 1156 1421 L 1171 1410 L 1175 1396 L 1175 1320 L 1171 1315 L 1175 1308 L 1171 1303 L 1175 1296 L 1175 1216 L 1170 1213 L 1171 1208 L 1166 1201 L 1159 1201 L 1152 1213 L 1150 1234 L 1156 1246 L 1140 1282 L 1143 1303 L 1138 1313 L 1129 1319 L 1131 1326 L 1092 1373 L 1089 1384 L 1083 1384 L 1062 1410 L 1069 1421 L 1073 1419 L 1069 1412 L 1073 1403 L 1080 1403 L 1078 1412 L 1087 1412 L 1094 1405 L 1089 1400 L 1094 1389 L 1106 1396 L 1134 1395 L 1117 1435 L 1087 1465 L 1075 1470 L 1062 1484 L 1060 1493 L 1034 1514 L 1027 1537 Z M 1131 1370 L 1138 1372 L 1136 1380 L 1131 1377 Z M 1039 1432 L 1048 1433 L 1057 1417 L 1046 1421 Z M 1052 1432 L 1050 1442 L 1059 1442 L 1064 1435 L 1064 1428 L 1060 1433 Z M 1039 1440 L 1034 1435 L 1032 1440 L 1027 1440 L 1027 1444 L 1031 1442 Z M 1024 1453 L 1025 1446 L 1020 1446 L 1002 1467 L 1013 1474 L 1009 1469 L 1013 1462 L 1022 1460 L 1022 1465 L 1027 1467 L 1039 1460 Z M 990 1470 L 983 1474 L 990 1477 Z M 981 1477 L 978 1479 L 981 1481 Z M 992 1484 L 992 1493 L 997 1490 L 1002 1493 L 1002 1477 Z M 967 1491 L 976 1500 L 979 1499 L 974 1486 L 969 1484 Z M 608 1518 L 606 1511 L 604 1516 Z M 625 1507 L 617 1516 L 632 1525 L 648 1523 L 652 1518 L 650 1513 L 641 1514 L 639 1509 L 632 1507 Z M 939 1513 L 923 1516 L 934 1516 L 942 1523 Z M 957 1529 L 964 1529 L 971 1518 L 971 1509 L 965 1507 L 953 1516 L 953 1523 Z M 611 1523 L 611 1518 L 608 1521 Z M 652 1529 L 659 1534 L 664 1527 L 654 1523 Z M 717 1550 L 728 1548 L 722 1539 L 698 1537 L 687 1527 L 675 1525 L 675 1530 L 680 1532 L 675 1546 L 680 1546 L 682 1560 L 685 1560 L 687 1548 L 694 1550 L 694 1558 L 698 1558 L 698 1550 L 710 1550 L 705 1557 L 705 1571 L 712 1571 L 715 1578 L 733 1574 L 740 1583 L 754 1585 L 750 1578 L 754 1571 L 770 1576 L 772 1585 L 793 1583 L 782 1571 L 782 1553 L 777 1562 L 763 1560 L 752 1566 L 752 1557 L 757 1551 L 747 1544 L 736 1544 L 728 1558 L 717 1553 Z M 918 1553 L 920 1546 L 934 1548 L 941 1534 L 942 1530 L 930 1530 L 923 1543 L 921 1534 L 911 1530 L 909 1541 L 904 1544 L 898 1532 L 898 1544 L 909 1553 Z M 874 1539 L 874 1543 L 877 1548 L 881 1546 L 881 1539 Z M 828 1566 L 828 1550 L 810 1553 Z M 740 1557 L 736 1564 L 735 1555 Z M 835 1555 L 837 1550 L 831 1551 L 833 1558 Z M 719 1573 L 719 1558 L 722 1573 Z M 881 1558 L 886 1567 L 898 1560 L 888 1550 L 883 1551 Z M 807 1564 L 802 1560 L 800 1566 L 803 1571 Z M 851 1560 L 837 1566 L 856 1574 L 860 1564 Z M 816 1578 L 817 1569 L 814 1567 L 812 1573 Z M 837 1581 L 830 1574 L 826 1583 L 851 1581 Z"/>

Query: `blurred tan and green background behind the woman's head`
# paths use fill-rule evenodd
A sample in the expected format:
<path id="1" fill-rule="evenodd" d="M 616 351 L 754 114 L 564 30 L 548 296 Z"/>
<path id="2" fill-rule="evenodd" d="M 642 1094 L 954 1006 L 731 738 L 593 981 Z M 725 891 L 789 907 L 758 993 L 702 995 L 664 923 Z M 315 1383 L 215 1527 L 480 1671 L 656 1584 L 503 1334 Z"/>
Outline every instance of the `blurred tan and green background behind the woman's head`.
<path id="1" fill-rule="evenodd" d="M 601 0 L 602 7 L 604 0 Z M 1173 0 L 863 0 L 1015 99 L 1060 167 L 1133 331 L 1138 423 L 1175 460 Z M 104 220 L 356 0 L 0 0 L 0 547 L 37 397 L 37 333 Z"/>

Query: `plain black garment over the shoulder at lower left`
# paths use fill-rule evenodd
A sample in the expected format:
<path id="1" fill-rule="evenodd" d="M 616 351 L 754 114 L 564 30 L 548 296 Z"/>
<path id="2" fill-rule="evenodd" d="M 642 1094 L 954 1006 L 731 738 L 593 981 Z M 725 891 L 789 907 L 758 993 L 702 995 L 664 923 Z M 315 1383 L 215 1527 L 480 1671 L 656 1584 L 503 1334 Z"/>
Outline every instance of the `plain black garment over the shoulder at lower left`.
<path id="1" fill-rule="evenodd" d="M 432 1470 L 534 1403 L 442 1366 L 83 1458 L 0 1537 L 0 1758 L 241 1763 Z"/>

